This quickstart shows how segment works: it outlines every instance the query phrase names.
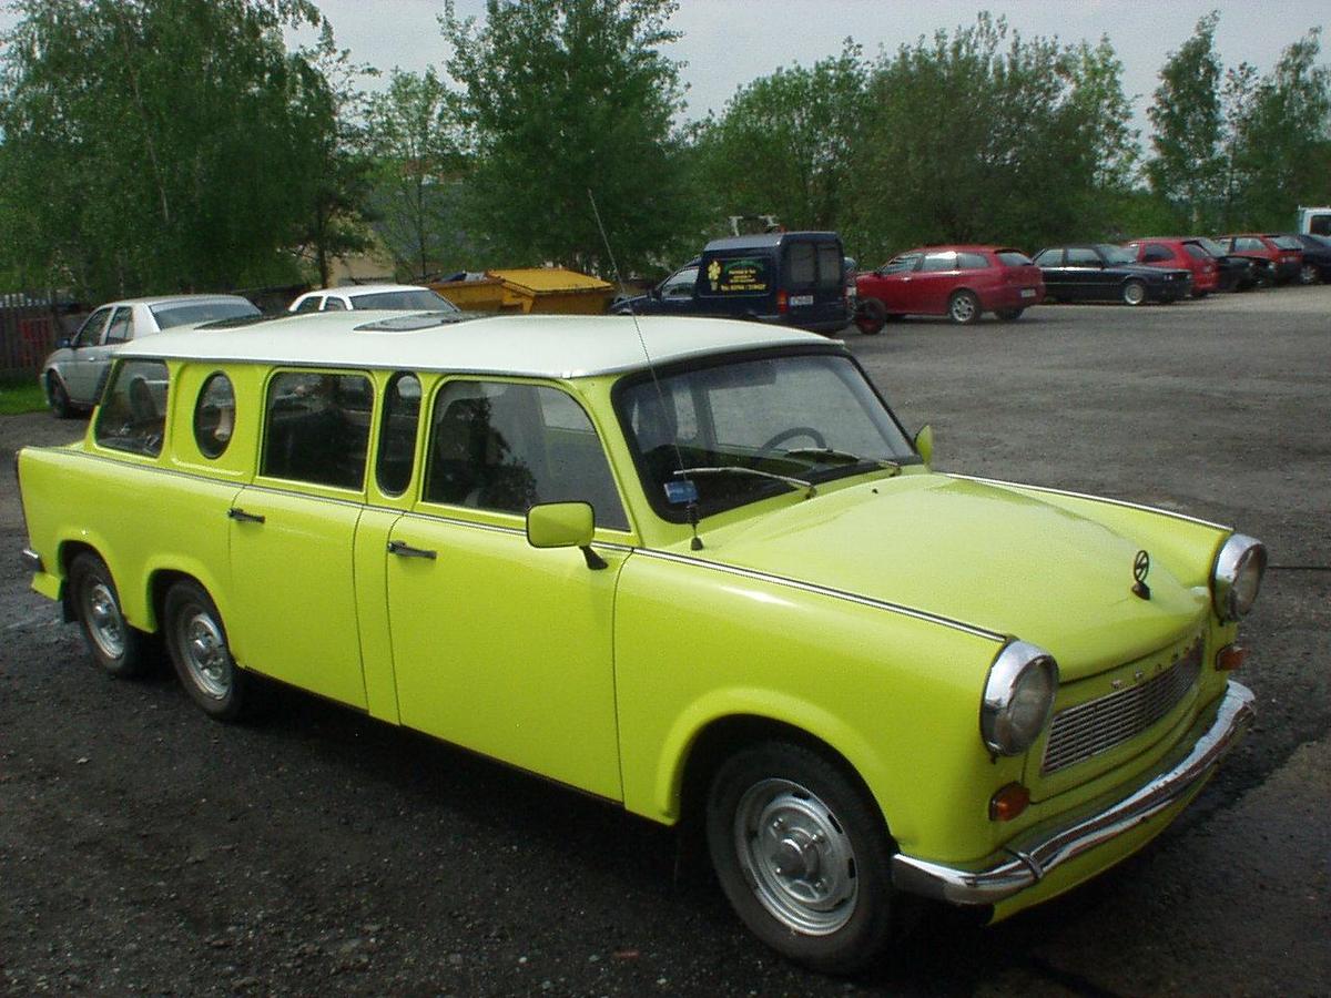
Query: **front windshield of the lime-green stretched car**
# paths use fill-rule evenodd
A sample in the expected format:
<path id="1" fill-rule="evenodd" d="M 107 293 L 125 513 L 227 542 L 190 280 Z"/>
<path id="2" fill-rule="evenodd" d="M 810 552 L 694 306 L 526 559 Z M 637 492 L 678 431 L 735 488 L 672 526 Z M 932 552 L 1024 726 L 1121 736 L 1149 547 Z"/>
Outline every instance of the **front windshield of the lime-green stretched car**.
<path id="1" fill-rule="evenodd" d="M 799 488 L 917 460 L 892 413 L 849 358 L 763 357 L 634 375 L 616 394 L 643 488 L 666 519 L 684 522 L 687 479 L 707 516 Z M 681 468 L 724 474 L 676 475 Z"/>

